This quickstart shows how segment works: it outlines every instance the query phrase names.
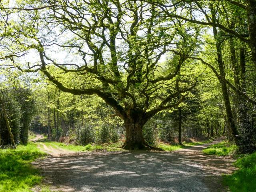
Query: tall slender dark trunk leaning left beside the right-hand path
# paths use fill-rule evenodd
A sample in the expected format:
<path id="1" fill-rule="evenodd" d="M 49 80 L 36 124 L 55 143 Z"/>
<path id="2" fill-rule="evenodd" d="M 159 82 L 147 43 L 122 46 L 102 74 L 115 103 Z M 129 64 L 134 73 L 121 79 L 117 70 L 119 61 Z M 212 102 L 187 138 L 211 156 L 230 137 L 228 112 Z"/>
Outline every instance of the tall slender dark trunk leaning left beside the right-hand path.
<path id="1" fill-rule="evenodd" d="M 212 13 L 213 22 L 216 23 L 215 11 L 212 8 L 211 8 L 211 13 Z M 225 70 L 224 70 L 224 64 L 223 64 L 223 60 L 222 60 L 221 42 L 218 37 L 218 32 L 217 32 L 216 26 L 213 26 L 212 29 L 213 29 L 214 39 L 216 41 L 216 50 L 217 50 L 217 57 L 218 57 L 217 61 L 218 61 L 218 67 L 220 70 L 220 76 L 223 79 L 225 79 Z M 220 83 L 221 83 L 222 94 L 223 94 L 223 98 L 224 98 L 224 104 L 225 104 L 225 108 L 226 108 L 227 120 L 230 125 L 231 132 L 232 132 L 232 138 L 234 139 L 235 142 L 237 142 L 238 132 L 237 132 L 236 124 L 235 124 L 234 117 L 232 114 L 232 109 L 231 109 L 229 95 L 228 95 L 228 88 L 224 81 L 221 80 Z"/>

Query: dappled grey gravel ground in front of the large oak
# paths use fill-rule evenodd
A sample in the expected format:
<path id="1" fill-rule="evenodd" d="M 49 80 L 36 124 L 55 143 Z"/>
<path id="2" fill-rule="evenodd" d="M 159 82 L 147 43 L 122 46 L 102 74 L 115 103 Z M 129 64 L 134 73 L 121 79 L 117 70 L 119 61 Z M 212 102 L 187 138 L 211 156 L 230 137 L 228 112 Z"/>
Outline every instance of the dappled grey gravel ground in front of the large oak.
<path id="1" fill-rule="evenodd" d="M 223 192 L 222 174 L 232 171 L 233 160 L 203 155 L 209 145 L 174 152 L 88 152 L 34 165 L 51 190 L 62 192 Z"/>

